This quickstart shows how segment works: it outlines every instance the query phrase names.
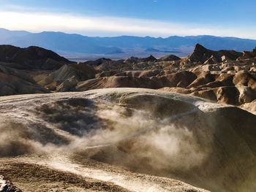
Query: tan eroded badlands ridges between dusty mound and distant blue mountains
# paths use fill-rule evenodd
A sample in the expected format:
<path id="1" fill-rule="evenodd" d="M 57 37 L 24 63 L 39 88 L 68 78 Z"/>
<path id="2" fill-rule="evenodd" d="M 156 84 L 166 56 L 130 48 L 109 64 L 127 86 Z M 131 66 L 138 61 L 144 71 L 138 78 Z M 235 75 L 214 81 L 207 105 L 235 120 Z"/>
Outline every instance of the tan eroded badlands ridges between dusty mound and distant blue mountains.
<path id="1" fill-rule="evenodd" d="M 97 88 L 152 88 L 190 94 L 219 103 L 254 104 L 256 50 L 208 50 L 196 45 L 187 58 L 101 58 L 66 64 L 55 72 L 34 75 L 50 91 L 87 91 Z M 252 107 L 249 109 L 252 112 Z"/>

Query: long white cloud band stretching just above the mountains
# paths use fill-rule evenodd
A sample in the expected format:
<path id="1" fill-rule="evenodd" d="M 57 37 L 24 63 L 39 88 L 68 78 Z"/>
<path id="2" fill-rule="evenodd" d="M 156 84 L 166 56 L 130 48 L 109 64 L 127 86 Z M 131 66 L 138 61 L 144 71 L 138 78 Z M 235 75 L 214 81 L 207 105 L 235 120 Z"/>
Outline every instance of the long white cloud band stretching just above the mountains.
<path id="1" fill-rule="evenodd" d="M 90 36 L 138 35 L 168 37 L 171 35 L 209 34 L 256 39 L 254 31 L 243 28 L 202 27 L 159 20 L 135 18 L 90 17 L 52 12 L 1 11 L 0 27 L 27 31 L 64 31 Z"/>

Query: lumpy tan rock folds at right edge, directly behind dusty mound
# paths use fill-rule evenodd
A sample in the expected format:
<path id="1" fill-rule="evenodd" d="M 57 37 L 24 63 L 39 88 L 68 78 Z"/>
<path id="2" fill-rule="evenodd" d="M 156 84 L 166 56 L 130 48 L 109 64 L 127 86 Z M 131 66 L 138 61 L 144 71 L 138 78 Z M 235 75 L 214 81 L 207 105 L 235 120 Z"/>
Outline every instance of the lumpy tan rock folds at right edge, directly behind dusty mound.
<path id="1" fill-rule="evenodd" d="M 219 103 L 240 105 L 256 99 L 255 74 L 238 72 L 236 74 L 211 74 L 202 72 L 188 86 L 181 88 L 162 88 L 165 91 L 191 94 Z"/>

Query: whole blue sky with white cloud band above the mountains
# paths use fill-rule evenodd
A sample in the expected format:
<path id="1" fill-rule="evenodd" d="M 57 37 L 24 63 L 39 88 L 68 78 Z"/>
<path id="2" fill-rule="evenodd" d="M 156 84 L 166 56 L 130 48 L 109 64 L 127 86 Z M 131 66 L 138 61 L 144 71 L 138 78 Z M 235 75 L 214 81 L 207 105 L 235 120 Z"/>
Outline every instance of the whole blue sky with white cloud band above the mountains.
<path id="1" fill-rule="evenodd" d="M 0 0 L 0 28 L 87 36 L 256 39 L 255 0 Z"/>

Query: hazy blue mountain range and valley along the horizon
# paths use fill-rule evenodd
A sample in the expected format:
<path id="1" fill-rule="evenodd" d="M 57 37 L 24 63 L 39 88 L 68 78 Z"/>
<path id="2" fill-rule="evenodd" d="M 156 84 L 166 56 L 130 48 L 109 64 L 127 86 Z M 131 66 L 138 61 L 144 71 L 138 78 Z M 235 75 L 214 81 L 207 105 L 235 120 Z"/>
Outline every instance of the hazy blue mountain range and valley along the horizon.
<path id="1" fill-rule="evenodd" d="M 129 58 L 130 56 L 161 57 L 167 53 L 175 53 L 180 57 L 189 55 L 195 44 L 199 43 L 211 50 L 252 50 L 256 40 L 236 37 L 214 37 L 208 35 L 178 37 L 87 37 L 80 34 L 43 31 L 10 31 L 0 28 L 0 44 L 18 47 L 38 46 L 53 50 L 71 60 L 89 60 L 101 58 Z"/>

